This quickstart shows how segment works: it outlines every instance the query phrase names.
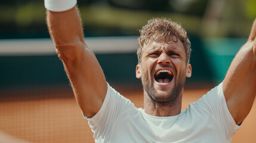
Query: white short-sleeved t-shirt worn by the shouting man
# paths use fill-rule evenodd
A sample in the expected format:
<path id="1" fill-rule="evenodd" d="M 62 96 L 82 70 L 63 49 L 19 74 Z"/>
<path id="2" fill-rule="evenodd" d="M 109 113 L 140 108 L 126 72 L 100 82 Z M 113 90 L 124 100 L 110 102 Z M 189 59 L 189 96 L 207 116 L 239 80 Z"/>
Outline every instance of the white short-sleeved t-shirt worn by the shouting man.
<path id="1" fill-rule="evenodd" d="M 229 113 L 222 83 L 177 116 L 156 117 L 107 86 L 100 111 L 88 119 L 95 142 L 231 142 L 239 126 Z"/>

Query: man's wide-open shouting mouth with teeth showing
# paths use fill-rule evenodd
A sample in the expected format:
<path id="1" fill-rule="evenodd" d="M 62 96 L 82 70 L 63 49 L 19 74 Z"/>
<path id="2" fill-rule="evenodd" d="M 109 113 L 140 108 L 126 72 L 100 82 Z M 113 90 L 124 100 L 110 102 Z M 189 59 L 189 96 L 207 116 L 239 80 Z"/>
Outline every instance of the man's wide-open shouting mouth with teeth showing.
<path id="1" fill-rule="evenodd" d="M 170 70 L 159 70 L 154 76 L 158 83 L 169 83 L 173 79 L 173 74 Z"/>

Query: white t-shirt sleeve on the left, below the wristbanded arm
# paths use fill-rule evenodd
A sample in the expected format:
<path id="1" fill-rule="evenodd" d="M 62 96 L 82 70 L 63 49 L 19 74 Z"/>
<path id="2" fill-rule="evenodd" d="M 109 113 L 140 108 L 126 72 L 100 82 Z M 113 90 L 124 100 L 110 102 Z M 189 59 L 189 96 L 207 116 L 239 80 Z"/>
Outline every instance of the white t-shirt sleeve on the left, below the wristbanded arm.
<path id="1" fill-rule="evenodd" d="M 119 115 L 133 108 L 135 106 L 130 100 L 123 97 L 107 83 L 107 94 L 98 113 L 92 118 L 84 116 L 88 120 L 92 132 L 94 132 L 95 141 L 104 140 L 111 133 Z"/>

